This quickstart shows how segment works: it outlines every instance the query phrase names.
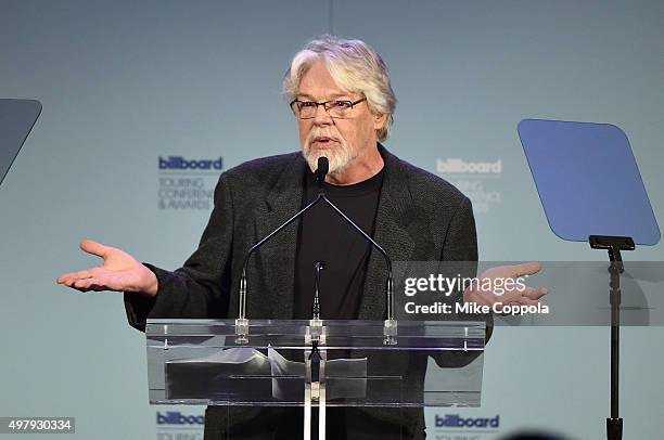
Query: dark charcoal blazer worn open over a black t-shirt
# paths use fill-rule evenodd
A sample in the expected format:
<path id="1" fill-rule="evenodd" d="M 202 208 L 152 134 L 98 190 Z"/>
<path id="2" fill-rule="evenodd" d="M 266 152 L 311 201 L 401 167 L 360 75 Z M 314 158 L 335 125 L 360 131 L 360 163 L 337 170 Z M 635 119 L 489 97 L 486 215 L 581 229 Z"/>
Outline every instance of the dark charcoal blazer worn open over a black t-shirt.
<path id="1" fill-rule="evenodd" d="M 400 160 L 380 144 L 379 150 L 385 168 L 373 238 L 392 260 L 476 261 L 475 222 L 470 200 L 445 180 Z M 302 153 L 291 153 L 247 161 L 224 172 L 199 248 L 174 272 L 148 264 L 158 280 L 155 298 L 125 294 L 130 325 L 144 329 L 148 318 L 237 316 L 243 258 L 254 243 L 301 208 L 306 167 Z M 295 222 L 250 260 L 247 318 L 292 319 L 296 234 Z M 373 249 L 359 319 L 385 319 L 385 277 L 384 260 Z M 438 359 L 436 362 L 446 363 Z M 458 364 L 458 359 L 450 361 L 450 365 Z M 391 365 L 403 371 L 421 370 L 408 386 L 422 387 L 426 360 L 418 361 L 417 365 L 412 361 Z M 248 420 L 259 411 L 246 409 L 244 415 L 238 413 L 231 418 Z M 394 422 L 394 410 L 367 410 L 367 417 L 387 423 Z M 209 407 L 205 439 L 225 438 L 228 416 L 226 409 Z M 421 410 L 401 411 L 401 420 L 409 425 L 405 438 L 423 437 Z M 362 420 L 366 422 L 367 418 Z M 350 431 L 348 438 L 354 438 Z"/>

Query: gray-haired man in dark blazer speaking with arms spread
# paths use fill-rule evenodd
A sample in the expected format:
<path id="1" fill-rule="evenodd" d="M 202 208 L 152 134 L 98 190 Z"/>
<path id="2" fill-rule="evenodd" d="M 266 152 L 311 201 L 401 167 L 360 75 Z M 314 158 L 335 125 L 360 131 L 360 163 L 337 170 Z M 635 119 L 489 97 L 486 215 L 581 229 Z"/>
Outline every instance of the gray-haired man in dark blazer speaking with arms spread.
<path id="1" fill-rule="evenodd" d="M 475 225 L 470 200 L 444 180 L 392 155 L 387 139 L 396 99 L 385 63 L 359 40 L 324 37 L 298 52 L 284 79 L 284 92 L 297 119 L 302 153 L 253 160 L 219 178 L 215 208 L 197 250 L 175 272 L 142 264 L 130 255 L 91 241 L 81 248 L 104 258 L 100 268 L 61 276 L 79 290 L 125 292 L 132 326 L 148 318 L 232 318 L 248 248 L 316 195 L 312 171 L 325 156 L 325 191 L 393 260 L 476 261 Z M 255 319 L 310 318 L 314 264 L 321 275 L 323 319 L 385 318 L 385 267 L 370 245 L 329 207 L 318 205 L 284 229 L 252 257 L 247 269 L 247 315 Z M 491 276 L 534 273 L 536 264 L 495 268 Z M 252 295 L 251 293 L 254 293 Z M 527 289 L 503 302 L 535 303 L 544 295 Z M 482 292 L 468 300 L 491 302 Z M 424 365 L 425 367 L 425 365 Z M 293 438 L 280 420 L 284 413 L 248 409 L 238 413 L 245 438 Z M 261 416 L 261 423 L 253 417 Z M 371 438 L 404 423 L 404 438 L 423 438 L 421 410 L 399 422 L 388 411 L 336 414 L 329 438 Z M 222 438 L 225 412 L 208 409 L 205 438 Z M 261 426 L 263 425 L 263 426 Z M 269 426 L 271 437 L 266 435 Z M 258 430 L 256 430 L 258 429 Z M 263 430 L 261 430 L 263 429 Z M 234 431 L 233 435 L 240 435 Z"/>

